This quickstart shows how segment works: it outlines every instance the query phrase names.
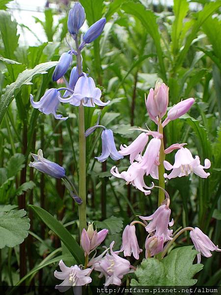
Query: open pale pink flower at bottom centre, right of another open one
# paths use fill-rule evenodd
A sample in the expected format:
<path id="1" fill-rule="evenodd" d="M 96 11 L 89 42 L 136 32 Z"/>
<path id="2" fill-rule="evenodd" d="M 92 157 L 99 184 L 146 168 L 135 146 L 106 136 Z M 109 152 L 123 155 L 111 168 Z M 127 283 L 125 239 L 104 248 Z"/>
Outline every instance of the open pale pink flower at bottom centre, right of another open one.
<path id="1" fill-rule="evenodd" d="M 100 261 L 94 261 L 94 269 L 100 271 L 99 277 L 105 276 L 105 286 L 109 285 L 121 285 L 121 279 L 123 276 L 129 272 L 130 270 L 130 262 L 124 258 L 121 258 L 117 255 L 118 252 L 113 252 L 114 241 L 111 242 L 110 251 L 111 254 L 106 254 L 104 258 Z M 106 250 L 107 251 L 107 250 Z M 91 265 L 89 262 L 88 265 Z"/>

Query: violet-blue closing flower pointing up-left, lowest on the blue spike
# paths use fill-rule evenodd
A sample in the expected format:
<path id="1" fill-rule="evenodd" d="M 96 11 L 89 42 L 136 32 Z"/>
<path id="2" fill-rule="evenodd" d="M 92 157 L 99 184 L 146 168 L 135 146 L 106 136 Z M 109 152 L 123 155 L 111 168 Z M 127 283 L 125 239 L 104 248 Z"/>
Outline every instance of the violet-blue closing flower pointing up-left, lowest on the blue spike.
<path id="1" fill-rule="evenodd" d="M 40 172 L 46 173 L 55 178 L 65 177 L 65 170 L 60 165 L 51 162 L 43 157 L 41 149 L 38 150 L 38 154 L 31 154 L 34 158 L 34 162 L 28 164 L 29 167 L 36 168 Z"/>

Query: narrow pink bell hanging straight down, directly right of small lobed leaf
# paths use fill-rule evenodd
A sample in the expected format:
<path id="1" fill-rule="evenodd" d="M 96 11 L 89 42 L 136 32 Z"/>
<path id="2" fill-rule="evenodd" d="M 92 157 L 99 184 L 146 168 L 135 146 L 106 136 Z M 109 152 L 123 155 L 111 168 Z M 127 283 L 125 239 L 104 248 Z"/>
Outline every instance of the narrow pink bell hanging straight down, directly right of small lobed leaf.
<path id="1" fill-rule="evenodd" d="M 139 259 L 139 253 L 142 252 L 142 249 L 139 248 L 134 225 L 127 225 L 125 227 L 122 235 L 121 251 L 124 251 L 124 256 L 131 256 L 133 253 L 134 258 Z"/>

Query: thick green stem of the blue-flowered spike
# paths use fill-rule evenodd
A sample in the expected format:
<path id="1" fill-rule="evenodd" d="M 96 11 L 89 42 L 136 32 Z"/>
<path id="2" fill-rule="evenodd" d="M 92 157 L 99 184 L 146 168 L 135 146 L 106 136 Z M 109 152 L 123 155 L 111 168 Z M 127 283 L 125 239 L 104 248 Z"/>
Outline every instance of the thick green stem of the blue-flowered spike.
<path id="1" fill-rule="evenodd" d="M 76 37 L 77 65 L 79 76 L 82 74 L 81 51 L 79 50 L 78 38 Z M 79 106 L 79 197 L 82 204 L 79 205 L 79 230 L 80 237 L 84 228 L 86 228 L 86 139 L 84 136 L 84 109 Z"/>

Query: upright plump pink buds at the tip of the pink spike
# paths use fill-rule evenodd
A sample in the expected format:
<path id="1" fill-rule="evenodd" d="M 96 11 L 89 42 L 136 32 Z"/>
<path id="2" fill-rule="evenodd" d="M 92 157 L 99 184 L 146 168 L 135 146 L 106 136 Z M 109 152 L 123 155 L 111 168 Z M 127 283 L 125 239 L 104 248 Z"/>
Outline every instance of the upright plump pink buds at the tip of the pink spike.
<path id="1" fill-rule="evenodd" d="M 168 106 L 169 88 L 165 83 L 157 82 L 155 89 L 150 89 L 147 96 L 146 108 L 150 118 L 158 124 L 159 118 L 163 118 L 166 114 Z"/>

